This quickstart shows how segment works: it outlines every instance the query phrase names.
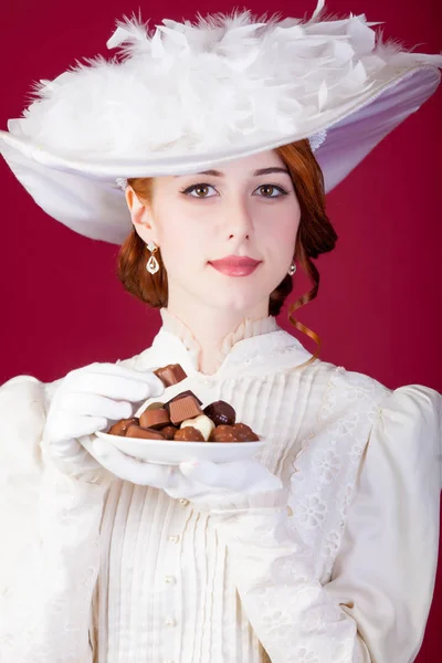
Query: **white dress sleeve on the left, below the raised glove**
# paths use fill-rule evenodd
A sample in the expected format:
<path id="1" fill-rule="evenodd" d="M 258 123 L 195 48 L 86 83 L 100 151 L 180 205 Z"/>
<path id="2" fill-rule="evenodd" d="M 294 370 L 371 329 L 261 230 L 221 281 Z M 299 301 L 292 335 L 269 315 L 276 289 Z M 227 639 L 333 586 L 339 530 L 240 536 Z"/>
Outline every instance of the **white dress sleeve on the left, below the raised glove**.
<path id="1" fill-rule="evenodd" d="M 90 663 L 105 487 L 43 464 L 44 387 L 0 389 L 0 661 Z"/>

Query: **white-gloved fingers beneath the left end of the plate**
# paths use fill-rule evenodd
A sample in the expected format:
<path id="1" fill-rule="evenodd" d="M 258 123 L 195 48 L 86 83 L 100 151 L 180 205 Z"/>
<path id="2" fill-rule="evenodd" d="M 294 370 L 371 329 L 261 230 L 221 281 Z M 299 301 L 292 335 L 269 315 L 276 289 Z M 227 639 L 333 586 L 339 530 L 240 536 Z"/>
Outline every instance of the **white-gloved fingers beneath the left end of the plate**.
<path id="1" fill-rule="evenodd" d="M 94 440 L 90 453 L 109 472 L 135 484 L 167 488 L 175 485 L 175 467 L 155 465 L 127 456 L 109 442 Z"/>

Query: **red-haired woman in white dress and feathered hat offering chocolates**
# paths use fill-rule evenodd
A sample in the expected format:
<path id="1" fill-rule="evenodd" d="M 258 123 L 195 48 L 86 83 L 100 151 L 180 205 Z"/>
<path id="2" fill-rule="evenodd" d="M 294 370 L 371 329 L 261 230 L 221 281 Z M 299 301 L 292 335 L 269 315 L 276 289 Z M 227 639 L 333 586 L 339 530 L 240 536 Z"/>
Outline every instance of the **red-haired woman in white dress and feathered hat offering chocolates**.
<path id="1" fill-rule="evenodd" d="M 441 397 L 322 361 L 275 315 L 296 263 L 314 282 L 297 304 L 316 295 L 312 259 L 337 239 L 325 190 L 431 95 L 442 61 L 375 55 L 365 18 L 320 21 L 322 8 L 303 24 L 248 12 L 165 20 L 154 35 L 119 24 L 108 45 L 125 43 L 126 60 L 42 83 L 1 134 L 43 209 L 123 242 L 123 284 L 162 318 L 140 355 L 0 389 L 8 663 L 399 663 L 419 651 Z M 254 264 L 220 264 L 230 255 Z M 152 371 L 176 362 L 179 391 L 227 400 L 259 432 L 255 460 L 161 466 L 97 438 L 168 398 Z"/>

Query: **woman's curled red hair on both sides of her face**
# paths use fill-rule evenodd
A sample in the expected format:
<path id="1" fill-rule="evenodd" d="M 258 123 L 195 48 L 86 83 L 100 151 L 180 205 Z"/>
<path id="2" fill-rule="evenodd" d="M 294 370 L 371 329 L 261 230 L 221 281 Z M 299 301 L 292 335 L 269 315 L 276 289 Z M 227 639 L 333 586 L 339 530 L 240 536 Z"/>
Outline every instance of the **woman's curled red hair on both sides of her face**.
<path id="1" fill-rule="evenodd" d="M 320 338 L 293 317 L 293 313 L 317 296 L 319 288 L 319 272 L 312 259 L 320 253 L 335 249 L 338 235 L 333 228 L 325 211 L 324 176 L 312 151 L 308 140 L 298 140 L 288 145 L 276 147 L 287 167 L 296 197 L 301 207 L 301 220 L 296 235 L 293 256 L 301 269 L 313 282 L 311 291 L 302 295 L 288 306 L 290 323 L 303 334 L 306 334 L 317 344 L 317 350 L 306 362 L 313 362 L 319 356 Z M 154 178 L 131 178 L 128 185 L 135 193 L 146 202 L 152 199 Z M 127 292 L 152 308 L 162 308 L 168 303 L 167 272 L 161 259 L 161 252 L 155 253 L 160 266 L 156 274 L 149 274 L 146 262 L 149 253 L 146 244 L 136 232 L 135 228 L 120 246 L 118 254 L 118 278 Z M 283 304 L 293 290 L 292 276 L 288 274 L 271 293 L 269 301 L 269 315 L 277 316 Z"/>

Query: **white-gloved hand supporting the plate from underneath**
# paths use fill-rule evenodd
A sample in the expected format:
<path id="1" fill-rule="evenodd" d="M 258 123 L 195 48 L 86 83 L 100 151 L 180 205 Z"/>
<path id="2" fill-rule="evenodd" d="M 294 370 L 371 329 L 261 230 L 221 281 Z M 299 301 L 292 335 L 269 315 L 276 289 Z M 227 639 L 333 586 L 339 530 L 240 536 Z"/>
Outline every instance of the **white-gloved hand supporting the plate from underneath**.
<path id="1" fill-rule="evenodd" d="M 124 454 L 110 442 L 96 439 L 93 453 L 113 474 L 131 483 L 162 488 L 175 498 L 211 508 L 244 497 L 281 491 L 282 482 L 255 460 L 210 463 L 185 461 L 180 465 L 146 463 Z"/>

